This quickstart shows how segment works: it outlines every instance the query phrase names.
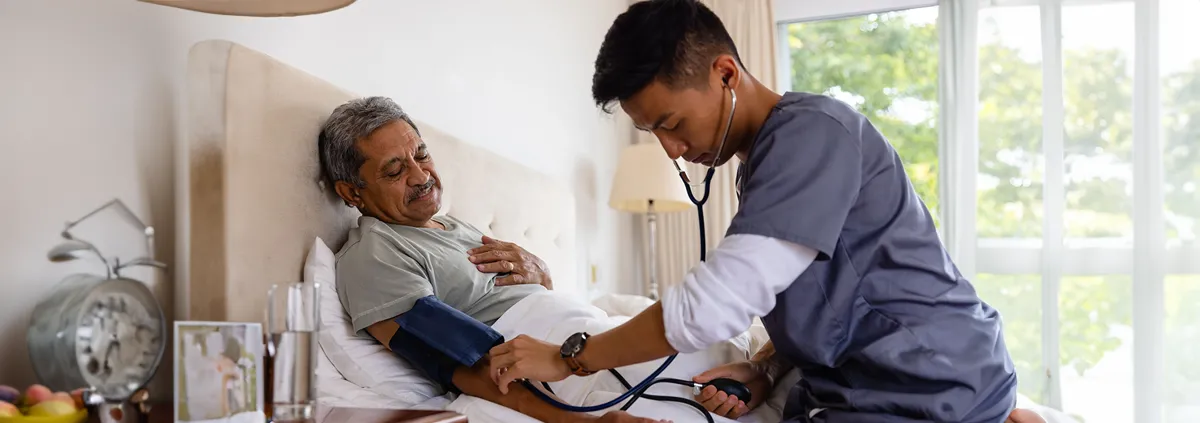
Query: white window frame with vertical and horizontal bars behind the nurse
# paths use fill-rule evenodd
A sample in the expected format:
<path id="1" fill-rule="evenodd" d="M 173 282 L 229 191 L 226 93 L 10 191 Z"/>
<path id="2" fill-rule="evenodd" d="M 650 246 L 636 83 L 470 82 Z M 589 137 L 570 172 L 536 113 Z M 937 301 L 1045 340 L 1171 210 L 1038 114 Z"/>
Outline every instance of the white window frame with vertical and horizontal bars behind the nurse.
<path id="1" fill-rule="evenodd" d="M 853 16 L 902 11 L 940 5 L 940 107 L 938 175 L 942 238 L 960 272 L 974 280 L 977 273 L 1042 276 L 1043 365 L 1046 387 L 1043 405 L 1062 409 L 1060 377 L 1058 294 L 1063 278 L 1126 274 L 1133 280 L 1133 379 L 1134 418 L 1160 422 L 1165 373 L 1164 284 L 1166 275 L 1200 274 L 1200 245 L 1168 242 L 1163 184 L 1162 102 L 1159 99 L 1159 0 L 976 0 L 858 1 L 841 6 L 840 13 L 797 14 L 799 7 L 781 6 L 798 0 L 776 0 L 776 34 L 780 91 L 792 89 L 792 61 L 787 26 L 794 23 L 840 19 Z M 1133 75 L 1133 237 L 1066 238 L 1063 212 L 1063 6 L 1096 4 L 1134 5 Z M 896 6 L 902 5 L 902 6 Z M 978 172 L 978 14 L 989 7 L 1039 6 L 1043 55 L 1043 181 L 1042 238 L 979 238 L 976 234 L 976 179 Z M 857 8 L 856 8 L 857 7 Z M 820 7 L 817 7 L 820 10 Z M 829 10 L 827 7 L 826 10 Z M 949 118 L 949 119 L 947 119 Z M 942 127 L 947 126 L 947 127 Z M 961 139 L 943 143 L 942 139 Z M 1046 242 L 1057 239 L 1058 242 Z"/>

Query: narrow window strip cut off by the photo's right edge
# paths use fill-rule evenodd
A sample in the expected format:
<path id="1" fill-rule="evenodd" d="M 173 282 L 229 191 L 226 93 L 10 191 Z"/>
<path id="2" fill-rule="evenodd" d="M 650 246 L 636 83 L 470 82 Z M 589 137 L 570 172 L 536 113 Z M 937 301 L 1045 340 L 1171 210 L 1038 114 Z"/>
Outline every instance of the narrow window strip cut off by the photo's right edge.
<path id="1" fill-rule="evenodd" d="M 1178 257 L 1163 282 L 1163 421 L 1200 422 L 1200 1 L 1159 7 L 1163 230 Z"/>

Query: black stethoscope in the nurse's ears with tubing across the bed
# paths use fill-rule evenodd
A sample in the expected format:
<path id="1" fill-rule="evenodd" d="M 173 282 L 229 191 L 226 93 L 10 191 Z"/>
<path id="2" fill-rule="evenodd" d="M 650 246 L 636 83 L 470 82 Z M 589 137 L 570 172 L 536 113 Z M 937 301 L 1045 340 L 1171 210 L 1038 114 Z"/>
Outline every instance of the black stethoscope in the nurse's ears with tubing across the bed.
<path id="1" fill-rule="evenodd" d="M 728 78 L 727 77 L 725 78 L 725 87 L 724 88 L 728 89 Z M 728 115 L 728 118 L 725 121 L 725 135 L 721 136 L 721 144 L 720 144 L 720 147 L 716 148 L 716 156 L 714 156 L 713 157 L 713 162 L 708 165 L 708 171 L 704 173 L 704 180 L 702 183 L 700 183 L 700 184 L 694 184 L 688 178 L 688 172 L 684 171 L 683 167 L 679 166 L 679 162 L 674 161 L 674 160 L 671 161 L 672 163 L 674 163 L 676 169 L 679 171 L 679 179 L 683 180 L 684 189 L 688 190 L 688 198 L 691 199 L 692 204 L 696 204 L 696 216 L 697 216 L 697 220 L 700 220 L 700 261 L 704 261 L 704 251 L 707 250 L 706 244 L 704 244 L 704 203 L 708 202 L 708 192 L 709 192 L 708 189 L 709 189 L 710 183 L 713 180 L 713 173 L 716 169 L 716 162 L 721 159 L 721 154 L 725 153 L 725 142 L 730 137 L 730 126 L 731 126 L 731 124 L 733 124 L 733 113 L 737 112 L 737 109 L 738 109 L 738 95 L 736 93 L 733 93 L 732 89 L 730 89 L 730 95 L 731 95 L 732 100 L 731 100 L 731 106 L 730 106 L 730 115 Z M 696 195 L 692 193 L 691 189 L 692 187 L 697 187 L 698 185 L 703 185 L 704 186 L 704 193 L 703 193 L 702 197 L 700 197 L 697 199 Z M 660 374 L 662 374 L 664 370 L 667 369 L 667 365 L 671 365 L 671 362 L 673 362 L 674 358 L 676 358 L 674 355 L 672 355 L 671 357 L 667 357 L 667 359 L 665 362 L 662 362 L 662 365 L 660 365 L 658 368 L 658 370 L 654 370 L 654 373 L 652 373 L 649 376 L 647 376 L 646 380 L 643 380 L 641 383 L 637 383 L 636 387 L 630 386 L 629 382 L 625 381 L 625 377 L 622 376 L 620 373 L 618 373 L 616 369 L 608 369 L 608 373 L 612 374 L 613 377 L 617 377 L 617 381 L 619 381 L 620 385 L 624 386 L 626 391 L 625 391 L 625 393 L 620 394 L 619 397 L 612 399 L 611 401 L 607 401 L 607 403 L 604 403 L 604 404 L 598 404 L 598 405 L 592 405 L 592 406 L 575 406 L 575 405 L 563 404 L 562 401 L 559 401 L 559 400 L 557 400 L 554 398 L 551 398 L 545 392 L 541 392 L 541 389 L 538 389 L 536 387 L 534 387 L 533 383 L 530 383 L 528 380 L 523 380 L 521 382 L 526 386 L 526 388 L 528 388 L 530 392 L 533 392 L 533 394 L 535 397 L 540 398 L 541 400 L 546 401 L 547 404 L 553 405 L 553 406 L 556 406 L 558 409 L 562 409 L 562 410 L 575 411 L 575 412 L 593 412 L 593 411 L 605 410 L 605 409 L 612 407 L 612 406 L 619 404 L 620 401 L 624 401 L 625 399 L 632 397 L 632 399 L 630 399 L 629 403 L 625 403 L 625 405 L 623 405 L 620 407 L 620 410 L 623 410 L 623 411 L 624 410 L 629 410 L 629 407 L 631 407 L 634 405 L 634 403 L 637 401 L 637 399 L 646 398 L 646 399 L 653 399 L 653 400 L 656 400 L 656 401 L 671 401 L 671 403 L 682 403 L 682 404 L 690 405 L 690 406 L 700 410 L 704 415 L 704 418 L 708 419 L 708 423 L 713 423 L 714 422 L 713 421 L 713 415 L 707 409 L 704 409 L 703 405 L 701 405 L 700 403 L 696 403 L 696 401 L 694 401 L 691 399 L 676 398 L 676 397 L 664 397 L 664 395 L 653 395 L 653 394 L 646 393 L 646 391 L 649 389 L 655 383 L 674 383 L 674 385 L 686 386 L 686 387 L 690 387 L 690 388 L 694 389 L 694 394 L 698 394 L 700 389 L 703 389 L 704 387 L 712 385 L 712 386 L 715 386 L 716 389 L 719 389 L 721 392 L 725 392 L 725 394 L 727 394 L 727 395 L 737 395 L 738 399 L 742 400 L 743 403 L 750 404 L 750 389 L 746 388 L 746 386 L 743 385 L 742 382 L 734 381 L 732 379 L 724 379 L 724 377 L 722 379 L 714 379 L 712 381 L 708 381 L 708 383 L 703 383 L 703 385 L 696 383 L 696 382 L 692 382 L 692 381 L 680 380 L 680 379 L 672 379 L 672 377 L 656 379 Z M 541 386 L 546 391 L 548 391 L 550 393 L 554 393 L 554 391 L 552 391 L 550 388 L 548 383 L 542 382 Z"/>

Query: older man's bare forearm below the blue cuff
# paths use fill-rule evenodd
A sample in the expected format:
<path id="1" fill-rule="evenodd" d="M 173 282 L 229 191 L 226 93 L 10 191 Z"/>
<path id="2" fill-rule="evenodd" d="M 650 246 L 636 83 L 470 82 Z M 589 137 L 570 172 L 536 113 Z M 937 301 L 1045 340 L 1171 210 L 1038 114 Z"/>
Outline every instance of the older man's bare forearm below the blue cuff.
<path id="1" fill-rule="evenodd" d="M 487 375 L 487 358 L 475 363 L 474 368 L 460 367 L 454 373 L 454 385 L 463 393 L 486 399 L 488 401 L 516 410 L 517 412 L 533 417 L 540 422 L 594 422 L 598 417 L 570 412 L 556 409 L 534 397 L 529 389 L 521 383 L 512 383 L 508 394 L 502 394 L 492 377 Z"/>

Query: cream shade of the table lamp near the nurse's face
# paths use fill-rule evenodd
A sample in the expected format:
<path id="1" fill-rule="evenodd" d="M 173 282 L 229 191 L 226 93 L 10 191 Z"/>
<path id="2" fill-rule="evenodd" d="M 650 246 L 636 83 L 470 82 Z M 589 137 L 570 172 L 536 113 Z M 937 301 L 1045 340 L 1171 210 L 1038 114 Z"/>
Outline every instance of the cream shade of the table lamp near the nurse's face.
<path id="1" fill-rule="evenodd" d="M 613 175 L 608 207 L 622 212 L 647 213 L 649 201 L 655 213 L 695 208 L 688 198 L 679 172 L 658 143 L 625 147 Z"/>

